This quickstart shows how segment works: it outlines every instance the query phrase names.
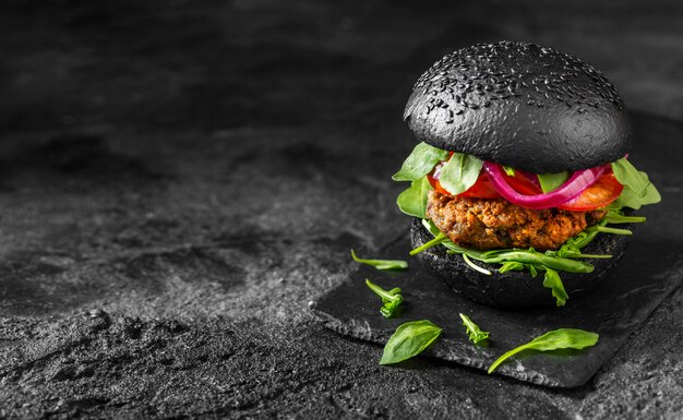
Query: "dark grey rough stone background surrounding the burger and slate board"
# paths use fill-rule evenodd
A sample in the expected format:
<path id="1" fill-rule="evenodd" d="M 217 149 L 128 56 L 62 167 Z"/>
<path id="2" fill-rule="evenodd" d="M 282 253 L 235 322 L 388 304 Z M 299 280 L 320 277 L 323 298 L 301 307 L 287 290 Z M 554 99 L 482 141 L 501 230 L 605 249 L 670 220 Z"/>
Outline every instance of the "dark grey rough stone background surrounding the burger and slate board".
<path id="1" fill-rule="evenodd" d="M 406 228 L 390 176 L 433 61 L 555 46 L 680 132 L 682 21 L 663 0 L 3 1 L 0 418 L 681 418 L 680 290 L 571 391 L 381 368 L 308 302 Z"/>

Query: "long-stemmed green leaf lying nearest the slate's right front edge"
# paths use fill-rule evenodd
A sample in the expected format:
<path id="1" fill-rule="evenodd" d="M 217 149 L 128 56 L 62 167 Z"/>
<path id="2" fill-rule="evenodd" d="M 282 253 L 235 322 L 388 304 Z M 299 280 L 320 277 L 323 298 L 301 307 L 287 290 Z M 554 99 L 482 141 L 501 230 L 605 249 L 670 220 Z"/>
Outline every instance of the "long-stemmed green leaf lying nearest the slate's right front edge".
<path id="1" fill-rule="evenodd" d="M 566 348 L 583 349 L 585 347 L 595 346 L 598 343 L 599 335 L 584 329 L 560 328 L 550 331 L 531 341 L 516 347 L 500 358 L 489 367 L 489 373 L 493 372 L 503 361 L 524 350 L 550 351 Z"/>

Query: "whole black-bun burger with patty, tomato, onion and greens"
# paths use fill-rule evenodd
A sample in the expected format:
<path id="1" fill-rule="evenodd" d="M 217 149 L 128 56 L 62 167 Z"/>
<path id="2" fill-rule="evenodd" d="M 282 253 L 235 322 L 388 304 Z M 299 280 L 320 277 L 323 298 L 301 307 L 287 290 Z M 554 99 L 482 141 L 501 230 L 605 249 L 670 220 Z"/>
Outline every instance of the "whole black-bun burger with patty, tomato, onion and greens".
<path id="1" fill-rule="evenodd" d="M 416 83 L 419 143 L 393 177 L 415 216 L 412 254 L 451 287 L 499 307 L 564 305 L 624 252 L 660 201 L 628 161 L 624 104 L 598 70 L 553 48 L 457 50 Z M 554 299 L 553 299 L 554 298 Z"/>

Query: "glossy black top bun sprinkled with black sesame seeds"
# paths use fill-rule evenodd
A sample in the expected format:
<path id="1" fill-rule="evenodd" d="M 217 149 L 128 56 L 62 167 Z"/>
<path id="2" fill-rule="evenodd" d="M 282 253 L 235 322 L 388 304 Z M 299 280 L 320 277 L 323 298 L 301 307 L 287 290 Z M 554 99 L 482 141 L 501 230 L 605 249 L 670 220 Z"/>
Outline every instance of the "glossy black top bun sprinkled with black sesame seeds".
<path id="1" fill-rule="evenodd" d="M 404 118 L 419 141 L 535 173 L 614 161 L 632 132 L 619 93 L 598 70 L 512 41 L 436 61 L 414 86 Z"/>

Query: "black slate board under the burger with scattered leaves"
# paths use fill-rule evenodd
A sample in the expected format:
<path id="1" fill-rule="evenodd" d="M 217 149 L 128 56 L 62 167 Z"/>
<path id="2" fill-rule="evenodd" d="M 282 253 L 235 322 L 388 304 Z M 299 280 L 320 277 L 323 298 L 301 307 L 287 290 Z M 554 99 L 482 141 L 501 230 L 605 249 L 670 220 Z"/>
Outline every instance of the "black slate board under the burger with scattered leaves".
<path id="1" fill-rule="evenodd" d="M 313 313 L 331 329 L 380 345 L 384 345 L 402 323 L 430 320 L 444 332 L 424 355 L 482 370 L 503 352 L 544 332 L 561 327 L 597 332 L 600 340 L 592 348 L 554 353 L 527 352 L 508 359 L 496 370 L 498 374 L 547 386 L 585 384 L 683 279 L 683 196 L 680 188 L 683 177 L 676 168 L 682 154 L 680 143 L 671 139 L 674 135 L 683 139 L 683 130 L 662 133 L 656 121 L 639 119 L 637 122 L 636 128 L 639 127 L 644 139 L 642 146 L 631 155 L 632 160 L 650 175 L 662 193 L 662 203 L 637 212 L 647 216 L 648 221 L 638 226 L 623 260 L 590 295 L 570 297 L 564 308 L 495 309 L 453 292 L 411 259 L 410 269 L 399 274 L 360 266 L 348 281 L 314 302 Z M 406 230 L 399 240 L 372 256 L 402 259 L 407 255 L 409 247 Z M 404 290 L 405 303 L 399 317 L 386 320 L 379 313 L 380 300 L 364 286 L 366 278 L 387 289 L 398 286 Z M 488 347 L 477 347 L 468 341 L 458 312 L 491 332 Z"/>

